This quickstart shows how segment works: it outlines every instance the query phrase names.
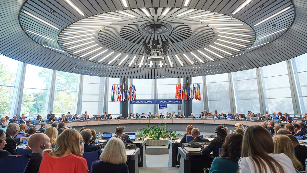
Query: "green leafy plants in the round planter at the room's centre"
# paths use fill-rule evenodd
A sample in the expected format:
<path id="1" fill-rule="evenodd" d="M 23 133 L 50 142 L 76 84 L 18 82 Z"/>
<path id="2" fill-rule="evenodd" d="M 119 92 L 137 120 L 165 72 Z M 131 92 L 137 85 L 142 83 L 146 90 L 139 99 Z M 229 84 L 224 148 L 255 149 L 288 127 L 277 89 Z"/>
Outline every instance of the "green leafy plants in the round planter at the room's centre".
<path id="1" fill-rule="evenodd" d="M 180 135 L 180 133 L 177 133 L 176 131 L 171 131 L 171 128 L 167 130 L 169 126 L 166 123 L 164 123 L 164 125 L 165 127 L 159 123 L 158 125 L 150 127 L 148 124 L 146 124 L 149 129 L 139 129 L 137 131 L 137 135 L 140 137 L 149 137 L 150 139 L 148 140 L 160 140 L 160 138 L 168 139 L 170 137 L 174 137 L 175 135 Z"/>

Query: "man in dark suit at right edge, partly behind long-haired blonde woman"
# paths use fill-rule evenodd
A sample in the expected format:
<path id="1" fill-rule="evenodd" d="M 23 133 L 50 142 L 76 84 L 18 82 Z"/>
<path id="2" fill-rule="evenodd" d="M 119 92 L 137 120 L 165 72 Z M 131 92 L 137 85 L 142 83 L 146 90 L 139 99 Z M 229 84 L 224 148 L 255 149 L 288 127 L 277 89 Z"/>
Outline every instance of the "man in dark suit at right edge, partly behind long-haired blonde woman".
<path id="1" fill-rule="evenodd" d="M 293 135 L 287 135 L 287 136 L 291 139 L 293 143 L 295 157 L 301 162 L 303 166 L 303 170 L 305 170 L 305 160 L 307 158 L 307 147 L 305 145 L 300 145 L 295 136 Z"/>

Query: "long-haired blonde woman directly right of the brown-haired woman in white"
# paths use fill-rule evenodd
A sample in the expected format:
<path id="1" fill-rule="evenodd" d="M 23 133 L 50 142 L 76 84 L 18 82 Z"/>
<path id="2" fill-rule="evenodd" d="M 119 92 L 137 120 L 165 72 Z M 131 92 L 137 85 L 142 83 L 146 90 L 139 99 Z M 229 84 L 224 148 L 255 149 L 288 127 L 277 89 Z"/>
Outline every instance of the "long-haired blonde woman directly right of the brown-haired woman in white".
<path id="1" fill-rule="evenodd" d="M 286 135 L 276 135 L 273 137 L 274 142 L 274 154 L 284 153 L 288 156 L 293 163 L 293 166 L 298 171 L 303 170 L 303 166 L 300 161 L 297 160 L 294 154 L 293 143 L 291 139 Z"/>

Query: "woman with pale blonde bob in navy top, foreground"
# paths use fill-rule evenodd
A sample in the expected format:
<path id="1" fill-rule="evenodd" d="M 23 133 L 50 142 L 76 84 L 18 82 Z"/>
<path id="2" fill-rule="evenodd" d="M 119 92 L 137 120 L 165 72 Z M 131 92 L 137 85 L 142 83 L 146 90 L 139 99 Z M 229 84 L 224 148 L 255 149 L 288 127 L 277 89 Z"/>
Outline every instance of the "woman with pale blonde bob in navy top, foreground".
<path id="1" fill-rule="evenodd" d="M 111 138 L 104 147 L 99 157 L 99 161 L 94 161 L 91 167 L 91 173 L 128 173 L 126 164 L 127 155 L 125 144 L 119 138 Z"/>

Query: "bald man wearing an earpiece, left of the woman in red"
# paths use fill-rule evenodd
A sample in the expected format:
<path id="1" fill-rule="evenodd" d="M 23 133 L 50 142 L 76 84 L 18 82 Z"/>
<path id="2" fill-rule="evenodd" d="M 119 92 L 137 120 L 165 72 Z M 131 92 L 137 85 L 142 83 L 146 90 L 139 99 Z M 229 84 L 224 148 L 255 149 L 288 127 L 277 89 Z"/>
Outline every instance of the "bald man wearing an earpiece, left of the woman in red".
<path id="1" fill-rule="evenodd" d="M 50 145 L 49 137 L 43 133 L 36 133 L 29 138 L 28 148 L 31 148 L 32 153 L 24 173 L 38 173 L 41 159 L 43 159 L 43 150 L 50 149 Z"/>

